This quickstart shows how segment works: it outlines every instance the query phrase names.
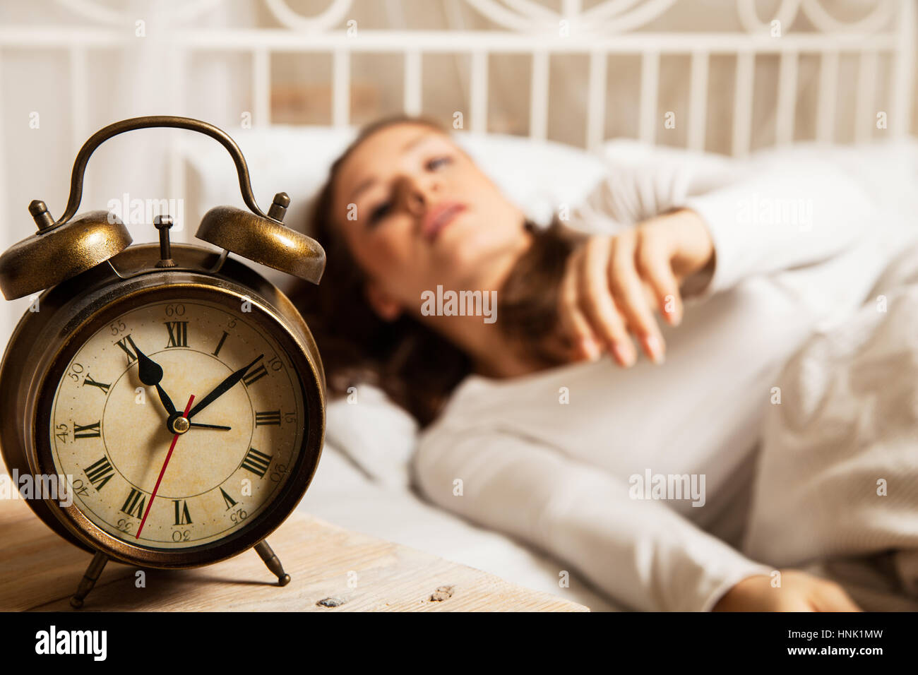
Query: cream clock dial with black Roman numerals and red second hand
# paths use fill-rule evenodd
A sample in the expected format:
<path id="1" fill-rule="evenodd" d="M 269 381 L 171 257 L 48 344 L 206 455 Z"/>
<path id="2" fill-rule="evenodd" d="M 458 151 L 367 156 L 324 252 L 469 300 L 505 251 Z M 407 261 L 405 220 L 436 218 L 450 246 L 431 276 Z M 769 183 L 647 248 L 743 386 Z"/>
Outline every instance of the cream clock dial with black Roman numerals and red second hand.
<path id="1" fill-rule="evenodd" d="M 131 545 L 231 537 L 283 493 L 303 452 L 297 371 L 251 303 L 134 308 L 86 339 L 56 383 L 55 470 L 86 518 Z"/>

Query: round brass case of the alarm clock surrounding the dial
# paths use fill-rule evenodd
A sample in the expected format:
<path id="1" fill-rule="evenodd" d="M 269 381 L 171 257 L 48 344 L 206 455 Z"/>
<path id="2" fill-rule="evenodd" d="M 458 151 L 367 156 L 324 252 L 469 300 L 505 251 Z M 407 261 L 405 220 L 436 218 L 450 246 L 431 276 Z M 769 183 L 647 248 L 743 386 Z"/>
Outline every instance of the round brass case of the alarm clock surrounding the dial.
<path id="1" fill-rule="evenodd" d="M 199 246 L 174 244 L 172 268 L 153 267 L 159 249 L 131 246 L 52 287 L 39 297 L 39 311 L 19 321 L 0 365 L 0 450 L 6 467 L 20 475 L 56 473 L 50 450 L 54 391 L 79 346 L 99 328 L 140 302 L 157 298 L 207 299 L 238 310 L 244 298 L 252 320 L 285 349 L 303 388 L 303 447 L 281 493 L 238 533 L 185 549 L 135 546 L 106 533 L 74 505 L 30 499 L 44 523 L 76 546 L 102 551 L 121 562 L 148 568 L 194 568 L 233 557 L 261 542 L 303 498 L 319 464 L 325 433 L 325 377 L 319 350 L 297 309 L 263 276 L 245 264 Z"/>

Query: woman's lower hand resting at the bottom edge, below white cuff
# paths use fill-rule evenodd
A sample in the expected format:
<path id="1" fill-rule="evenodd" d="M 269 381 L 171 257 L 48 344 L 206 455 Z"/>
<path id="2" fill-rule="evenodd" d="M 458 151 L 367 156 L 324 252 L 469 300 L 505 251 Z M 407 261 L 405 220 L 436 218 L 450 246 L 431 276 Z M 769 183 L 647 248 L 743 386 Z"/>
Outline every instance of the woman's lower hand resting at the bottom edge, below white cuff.
<path id="1" fill-rule="evenodd" d="M 799 569 L 782 569 L 781 585 L 771 577 L 747 577 L 727 591 L 714 612 L 862 612 L 834 581 L 820 579 Z"/>

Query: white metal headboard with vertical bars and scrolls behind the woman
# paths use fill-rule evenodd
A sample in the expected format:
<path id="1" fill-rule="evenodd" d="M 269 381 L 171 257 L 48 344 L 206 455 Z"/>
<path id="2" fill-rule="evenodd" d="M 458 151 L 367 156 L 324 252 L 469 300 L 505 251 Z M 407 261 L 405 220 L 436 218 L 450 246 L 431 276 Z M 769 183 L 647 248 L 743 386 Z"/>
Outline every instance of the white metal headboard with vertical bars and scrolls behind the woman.
<path id="1" fill-rule="evenodd" d="M 775 17 L 762 20 L 756 14 L 756 0 L 736 0 L 736 12 L 744 32 L 684 33 L 644 32 L 644 26 L 661 17 L 676 0 L 605 0 L 584 8 L 581 0 L 560 0 L 560 11 L 535 0 L 462 0 L 497 29 L 489 30 L 363 30 L 357 37 L 347 26 L 353 0 L 331 0 L 316 16 L 304 17 L 285 0 L 263 0 L 273 17 L 284 28 L 197 28 L 195 20 L 206 12 L 217 11 L 222 0 L 189 0 L 176 5 L 171 16 L 178 27 L 170 41 L 174 62 L 172 100 L 181 109 L 185 92 L 182 64 L 191 53 L 235 52 L 252 58 L 252 91 L 256 125 L 270 124 L 271 55 L 279 52 L 325 52 L 332 55 L 331 119 L 334 125 L 349 123 L 351 93 L 351 54 L 396 53 L 404 58 L 404 98 L 406 112 L 421 109 L 422 55 L 436 52 L 466 53 L 471 57 L 470 87 L 467 101 L 470 129 L 487 129 L 488 56 L 497 53 L 528 54 L 532 59 L 529 101 L 529 134 L 544 139 L 548 128 L 549 58 L 553 54 L 588 55 L 588 92 L 585 141 L 592 147 L 604 140 L 606 107 L 606 67 L 610 54 L 633 54 L 641 58 L 641 85 L 638 135 L 654 142 L 659 127 L 656 102 L 661 54 L 690 55 L 688 146 L 705 147 L 709 57 L 732 54 L 736 57 L 733 97 L 732 152 L 743 155 L 750 149 L 753 112 L 753 84 L 756 55 L 778 54 L 778 97 L 776 102 L 776 142 L 793 139 L 797 103 L 797 75 L 800 54 L 820 58 L 817 115 L 820 123 L 817 140 L 835 138 L 835 100 L 839 76 L 839 55 L 852 53 L 858 58 L 856 84 L 856 140 L 866 140 L 874 115 L 872 85 L 877 76 L 878 56 L 892 59 L 892 106 L 890 131 L 908 132 L 912 115 L 915 63 L 915 0 L 876 0 L 866 17 L 842 23 L 823 6 L 823 0 L 781 0 Z M 0 27 L 0 67 L 2 50 L 66 49 L 69 52 L 73 93 L 74 145 L 94 129 L 86 129 L 87 111 L 81 88 L 89 78 L 87 52 L 126 43 L 126 26 L 134 17 L 122 14 L 95 0 L 57 0 L 79 16 L 87 26 Z M 800 33 L 784 32 L 773 36 L 775 21 L 784 31 L 802 13 L 816 28 Z M 780 30 L 780 28 L 778 28 Z M 81 103 L 82 102 L 82 103 Z"/>

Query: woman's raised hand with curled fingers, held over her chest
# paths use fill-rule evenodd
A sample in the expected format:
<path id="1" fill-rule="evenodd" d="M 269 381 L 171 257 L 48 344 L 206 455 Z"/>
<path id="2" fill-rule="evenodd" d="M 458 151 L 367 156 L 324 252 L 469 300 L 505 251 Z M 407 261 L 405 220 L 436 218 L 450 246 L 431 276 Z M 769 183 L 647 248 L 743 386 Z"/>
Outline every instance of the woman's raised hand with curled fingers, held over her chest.
<path id="1" fill-rule="evenodd" d="M 609 352 L 621 366 L 632 366 L 637 353 L 631 332 L 644 353 L 662 363 L 666 345 L 654 310 L 678 325 L 679 284 L 713 255 L 711 234 L 689 209 L 644 220 L 615 236 L 588 238 L 567 261 L 559 297 L 561 326 L 574 358 Z"/>

